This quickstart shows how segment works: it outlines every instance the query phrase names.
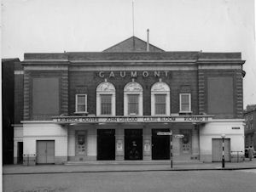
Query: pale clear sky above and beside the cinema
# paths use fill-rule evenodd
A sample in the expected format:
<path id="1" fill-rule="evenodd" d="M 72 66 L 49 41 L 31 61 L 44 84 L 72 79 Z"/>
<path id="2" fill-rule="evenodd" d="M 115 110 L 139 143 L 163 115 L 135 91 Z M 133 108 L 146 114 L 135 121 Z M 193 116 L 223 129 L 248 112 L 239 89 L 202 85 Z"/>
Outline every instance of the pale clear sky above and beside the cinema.
<path id="1" fill-rule="evenodd" d="M 241 52 L 256 104 L 253 0 L 134 0 L 134 35 L 166 51 Z M 102 51 L 132 36 L 132 0 L 2 0 L 2 58 Z"/>

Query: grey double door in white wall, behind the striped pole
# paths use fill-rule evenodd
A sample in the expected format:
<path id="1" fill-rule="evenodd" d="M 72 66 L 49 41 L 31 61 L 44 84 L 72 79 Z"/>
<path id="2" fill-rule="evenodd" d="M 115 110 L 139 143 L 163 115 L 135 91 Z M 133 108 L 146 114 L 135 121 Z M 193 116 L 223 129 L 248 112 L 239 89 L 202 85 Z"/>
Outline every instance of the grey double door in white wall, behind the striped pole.
<path id="1" fill-rule="evenodd" d="M 224 158 L 230 161 L 230 138 L 224 139 Z M 212 161 L 222 161 L 222 138 L 212 138 Z"/>

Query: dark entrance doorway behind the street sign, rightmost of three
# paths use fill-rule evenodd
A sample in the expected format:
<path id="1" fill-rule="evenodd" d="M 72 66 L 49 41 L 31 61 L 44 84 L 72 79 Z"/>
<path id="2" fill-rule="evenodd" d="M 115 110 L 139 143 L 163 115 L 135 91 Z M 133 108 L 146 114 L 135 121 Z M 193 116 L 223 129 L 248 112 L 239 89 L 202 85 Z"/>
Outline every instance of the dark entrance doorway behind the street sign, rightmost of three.
<path id="1" fill-rule="evenodd" d="M 170 132 L 170 130 L 152 129 L 152 160 L 169 160 L 170 136 L 157 135 L 158 132 Z"/>

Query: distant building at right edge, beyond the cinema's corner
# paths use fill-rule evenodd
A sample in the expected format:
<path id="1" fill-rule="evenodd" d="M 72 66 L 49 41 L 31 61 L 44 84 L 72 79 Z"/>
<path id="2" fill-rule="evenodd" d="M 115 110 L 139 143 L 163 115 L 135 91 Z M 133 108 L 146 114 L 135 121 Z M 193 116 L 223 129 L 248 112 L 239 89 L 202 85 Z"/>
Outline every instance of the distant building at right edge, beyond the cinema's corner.
<path id="1" fill-rule="evenodd" d="M 244 112 L 245 118 L 245 145 L 253 146 L 256 150 L 256 104 L 247 105 Z"/>

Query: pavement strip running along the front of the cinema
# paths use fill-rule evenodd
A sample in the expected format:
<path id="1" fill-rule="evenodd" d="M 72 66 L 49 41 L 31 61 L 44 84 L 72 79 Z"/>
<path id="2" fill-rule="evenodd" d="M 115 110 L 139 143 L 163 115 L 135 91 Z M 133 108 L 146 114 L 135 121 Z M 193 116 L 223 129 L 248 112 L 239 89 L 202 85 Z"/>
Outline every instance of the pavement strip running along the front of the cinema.
<path id="1" fill-rule="evenodd" d="M 93 161 L 83 165 L 5 165 L 3 175 L 8 174 L 45 174 L 45 173 L 70 173 L 70 172 L 149 172 L 149 171 L 203 171 L 203 170 L 239 170 L 256 169 L 256 159 L 242 162 L 202 163 L 200 161 L 174 161 L 171 168 L 170 161 Z"/>

